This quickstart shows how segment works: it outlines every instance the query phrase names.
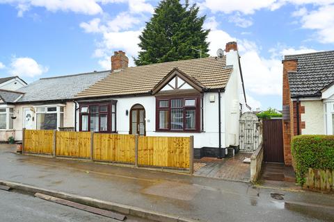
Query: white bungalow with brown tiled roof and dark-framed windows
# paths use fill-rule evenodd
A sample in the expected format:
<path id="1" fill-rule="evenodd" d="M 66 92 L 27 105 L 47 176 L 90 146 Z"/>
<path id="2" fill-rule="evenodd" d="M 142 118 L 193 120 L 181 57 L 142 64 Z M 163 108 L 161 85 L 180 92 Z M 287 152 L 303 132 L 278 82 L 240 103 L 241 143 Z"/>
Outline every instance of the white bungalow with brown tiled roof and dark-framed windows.
<path id="1" fill-rule="evenodd" d="M 128 67 L 125 52 L 111 73 L 79 92 L 77 129 L 147 136 L 194 136 L 195 157 L 234 155 L 239 117 L 250 110 L 237 42 L 225 55 Z"/>

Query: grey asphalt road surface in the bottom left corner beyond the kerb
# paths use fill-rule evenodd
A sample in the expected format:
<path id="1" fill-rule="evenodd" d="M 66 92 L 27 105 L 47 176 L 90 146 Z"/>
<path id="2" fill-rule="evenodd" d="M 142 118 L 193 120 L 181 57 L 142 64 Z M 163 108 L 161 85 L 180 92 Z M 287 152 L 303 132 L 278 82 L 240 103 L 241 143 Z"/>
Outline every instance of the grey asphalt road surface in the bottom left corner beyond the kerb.
<path id="1" fill-rule="evenodd" d="M 40 198 L 13 191 L 0 190 L 0 221 L 6 222 L 85 222 L 101 221 L 116 222 L 97 214 L 90 214 L 72 207 L 51 203 Z M 127 219 L 127 222 L 139 222 L 140 219 Z M 118 221 L 119 222 L 119 221 Z"/>

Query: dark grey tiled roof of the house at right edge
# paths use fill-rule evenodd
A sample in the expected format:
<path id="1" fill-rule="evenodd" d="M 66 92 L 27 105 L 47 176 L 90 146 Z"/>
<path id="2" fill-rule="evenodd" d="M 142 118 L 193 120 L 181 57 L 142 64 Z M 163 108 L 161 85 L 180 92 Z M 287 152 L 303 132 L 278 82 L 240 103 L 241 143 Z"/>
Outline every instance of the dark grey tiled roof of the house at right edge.
<path id="1" fill-rule="evenodd" d="M 291 96 L 320 96 L 334 81 L 334 51 L 285 56 L 297 60 L 297 71 L 289 71 Z"/>

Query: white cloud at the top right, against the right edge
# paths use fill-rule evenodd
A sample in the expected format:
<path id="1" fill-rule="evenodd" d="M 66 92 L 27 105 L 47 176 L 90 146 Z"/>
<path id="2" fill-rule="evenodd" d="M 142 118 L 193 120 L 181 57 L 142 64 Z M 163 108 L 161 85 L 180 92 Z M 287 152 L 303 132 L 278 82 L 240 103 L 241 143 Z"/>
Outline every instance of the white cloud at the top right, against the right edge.
<path id="1" fill-rule="evenodd" d="M 301 17 L 302 28 L 317 31 L 317 40 L 323 43 L 334 42 L 334 5 L 321 6 L 308 12 L 299 10 L 294 16 Z"/>

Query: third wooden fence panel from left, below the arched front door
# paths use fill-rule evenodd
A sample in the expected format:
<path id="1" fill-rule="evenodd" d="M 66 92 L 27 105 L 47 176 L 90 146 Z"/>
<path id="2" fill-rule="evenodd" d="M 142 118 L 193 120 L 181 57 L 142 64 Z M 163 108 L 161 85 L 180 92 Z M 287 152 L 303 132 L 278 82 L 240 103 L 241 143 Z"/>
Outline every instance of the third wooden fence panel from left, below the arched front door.
<path id="1" fill-rule="evenodd" d="M 134 163 L 134 135 L 94 134 L 94 160 Z"/>

